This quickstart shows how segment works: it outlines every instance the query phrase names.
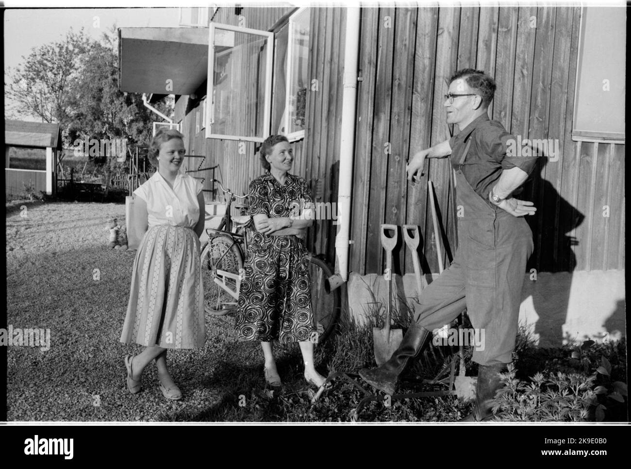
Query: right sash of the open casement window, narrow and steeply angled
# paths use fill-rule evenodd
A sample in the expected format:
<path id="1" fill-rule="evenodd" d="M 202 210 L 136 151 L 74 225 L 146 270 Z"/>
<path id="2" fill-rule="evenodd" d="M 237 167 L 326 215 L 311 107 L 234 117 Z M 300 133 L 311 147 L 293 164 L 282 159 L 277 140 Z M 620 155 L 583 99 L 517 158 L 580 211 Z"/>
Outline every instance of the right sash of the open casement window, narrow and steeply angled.
<path id="1" fill-rule="evenodd" d="M 309 77 L 309 8 L 300 8 L 274 41 L 274 96 L 271 133 L 289 141 L 305 138 Z"/>

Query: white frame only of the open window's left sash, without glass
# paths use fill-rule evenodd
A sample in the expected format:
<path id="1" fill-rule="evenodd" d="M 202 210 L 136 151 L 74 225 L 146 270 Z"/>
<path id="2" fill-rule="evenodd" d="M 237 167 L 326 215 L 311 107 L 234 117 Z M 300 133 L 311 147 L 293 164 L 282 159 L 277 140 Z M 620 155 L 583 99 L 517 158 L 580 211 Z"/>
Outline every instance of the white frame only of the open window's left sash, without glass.
<path id="1" fill-rule="evenodd" d="M 263 129 L 264 136 L 262 137 L 250 137 L 250 136 L 238 136 L 238 135 L 225 135 L 213 133 L 213 122 L 215 122 L 215 104 L 213 102 L 213 80 L 215 76 L 215 30 L 227 30 L 237 33 L 247 33 L 266 38 L 268 45 L 268 54 L 266 57 L 266 71 L 265 71 L 265 100 L 263 103 Z M 240 140 L 240 141 L 255 141 L 261 143 L 267 138 L 269 133 L 269 126 L 271 125 L 271 93 L 272 93 L 272 70 L 274 64 L 274 33 L 268 31 L 262 31 L 251 28 L 241 28 L 238 26 L 225 25 L 223 23 L 211 22 L 208 28 L 208 80 L 206 99 L 211 100 L 211 104 L 206 107 L 208 112 L 208 119 L 206 119 L 206 138 L 216 138 L 221 140 Z"/>

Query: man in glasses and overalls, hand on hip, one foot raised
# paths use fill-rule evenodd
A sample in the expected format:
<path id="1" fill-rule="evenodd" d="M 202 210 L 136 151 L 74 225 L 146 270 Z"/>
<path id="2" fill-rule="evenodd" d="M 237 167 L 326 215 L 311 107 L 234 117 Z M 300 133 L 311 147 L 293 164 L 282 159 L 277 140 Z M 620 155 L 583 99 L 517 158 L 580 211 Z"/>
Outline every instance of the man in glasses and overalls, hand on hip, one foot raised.
<path id="1" fill-rule="evenodd" d="M 425 158 L 451 155 L 456 203 L 463 215 L 458 218 L 459 247 L 451 266 L 423 290 L 415 321 L 391 359 L 360 371 L 372 386 L 394 394 L 399 374 L 430 331 L 451 323 L 466 307 L 473 328 L 485 330 L 484 350 L 473 352 L 480 366 L 474 410 L 463 419 L 469 421 L 492 416 L 488 400 L 500 388 L 498 374 L 512 359 L 526 261 L 533 252 L 533 234 L 523 217 L 536 208 L 512 193 L 526 181 L 536 157 L 512 154 L 521 142 L 488 119 L 494 93 L 495 81 L 483 71 L 457 71 L 444 107 L 447 123 L 457 124 L 460 133 L 416 153 L 408 163 L 408 180 L 414 182 Z"/>

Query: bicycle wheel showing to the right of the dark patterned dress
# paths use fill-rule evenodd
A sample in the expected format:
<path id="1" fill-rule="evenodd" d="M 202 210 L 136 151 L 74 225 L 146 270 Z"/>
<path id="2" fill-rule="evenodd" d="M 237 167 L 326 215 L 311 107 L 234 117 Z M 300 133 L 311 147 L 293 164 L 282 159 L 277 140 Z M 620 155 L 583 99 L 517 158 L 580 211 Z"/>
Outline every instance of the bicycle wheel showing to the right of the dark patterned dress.
<path id="1" fill-rule="evenodd" d="M 324 342 L 335 328 L 340 308 L 339 289 L 327 293 L 327 279 L 333 270 L 318 256 L 311 255 L 309 277 L 311 280 L 311 309 L 318 328 L 318 343 Z"/>

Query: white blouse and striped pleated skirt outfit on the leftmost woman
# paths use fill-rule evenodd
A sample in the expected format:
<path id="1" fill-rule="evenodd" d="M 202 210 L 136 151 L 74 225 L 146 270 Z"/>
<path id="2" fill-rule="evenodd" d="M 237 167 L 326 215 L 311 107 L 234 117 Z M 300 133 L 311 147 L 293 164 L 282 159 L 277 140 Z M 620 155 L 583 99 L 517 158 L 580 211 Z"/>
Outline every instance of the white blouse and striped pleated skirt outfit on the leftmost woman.
<path id="1" fill-rule="evenodd" d="M 198 348 L 206 340 L 197 194 L 201 183 L 179 174 L 173 187 L 157 171 L 134 195 L 147 206 L 131 278 L 121 342 Z"/>

